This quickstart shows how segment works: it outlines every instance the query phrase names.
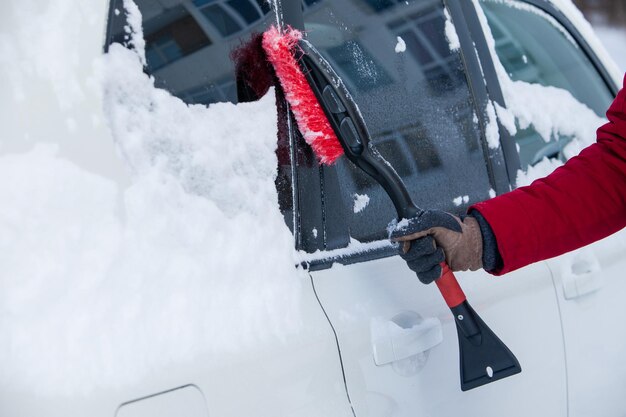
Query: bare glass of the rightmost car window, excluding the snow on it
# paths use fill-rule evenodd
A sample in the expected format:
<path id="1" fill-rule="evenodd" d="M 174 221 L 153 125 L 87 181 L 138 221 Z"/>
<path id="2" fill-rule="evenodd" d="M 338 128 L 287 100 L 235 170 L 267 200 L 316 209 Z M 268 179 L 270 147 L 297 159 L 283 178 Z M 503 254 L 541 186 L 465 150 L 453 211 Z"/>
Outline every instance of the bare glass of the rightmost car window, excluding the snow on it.
<path id="1" fill-rule="evenodd" d="M 552 86 L 569 91 L 576 100 L 603 116 L 613 95 L 585 52 L 567 29 L 532 5 L 481 0 L 496 53 L 514 81 Z M 546 143 L 531 126 L 518 129 L 522 169 L 542 158 L 564 159 L 570 137 L 556 134 Z"/>

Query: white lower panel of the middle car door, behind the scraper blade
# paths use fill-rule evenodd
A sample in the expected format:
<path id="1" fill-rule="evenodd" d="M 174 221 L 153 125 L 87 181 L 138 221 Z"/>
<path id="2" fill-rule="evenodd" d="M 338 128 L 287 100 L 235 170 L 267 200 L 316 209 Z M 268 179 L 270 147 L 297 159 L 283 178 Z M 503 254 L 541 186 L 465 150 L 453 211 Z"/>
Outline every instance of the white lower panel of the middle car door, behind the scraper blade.
<path id="1" fill-rule="evenodd" d="M 468 300 L 522 364 L 521 374 L 467 392 L 460 390 L 450 310 L 436 287 L 421 284 L 402 259 L 336 265 L 312 275 L 338 334 L 358 416 L 452 415 L 460 410 L 482 416 L 566 415 L 561 323 L 545 263 L 502 278 L 484 272 L 457 274 Z M 440 320 L 443 342 L 426 358 L 377 366 L 372 321 L 391 320 L 403 312 Z"/>

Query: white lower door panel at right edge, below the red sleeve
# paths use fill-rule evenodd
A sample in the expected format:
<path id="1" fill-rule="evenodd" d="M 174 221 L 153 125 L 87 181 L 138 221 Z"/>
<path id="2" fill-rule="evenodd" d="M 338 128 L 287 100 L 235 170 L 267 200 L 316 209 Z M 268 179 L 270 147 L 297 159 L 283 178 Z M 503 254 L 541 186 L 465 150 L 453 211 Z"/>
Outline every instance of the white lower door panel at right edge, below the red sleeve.
<path id="1" fill-rule="evenodd" d="M 623 415 L 626 231 L 547 261 L 559 295 L 570 416 Z"/>

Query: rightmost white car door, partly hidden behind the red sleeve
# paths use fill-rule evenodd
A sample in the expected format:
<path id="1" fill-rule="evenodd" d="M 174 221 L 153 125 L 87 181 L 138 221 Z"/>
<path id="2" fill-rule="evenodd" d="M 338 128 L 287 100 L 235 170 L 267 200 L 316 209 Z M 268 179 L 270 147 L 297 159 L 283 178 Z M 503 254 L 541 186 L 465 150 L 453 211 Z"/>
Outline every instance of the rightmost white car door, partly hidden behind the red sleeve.
<path id="1" fill-rule="evenodd" d="M 547 174 L 558 164 L 555 161 L 564 161 L 595 141 L 595 129 L 605 122 L 603 115 L 621 79 L 609 76 L 611 72 L 581 35 L 586 22 L 568 20 L 547 2 L 481 0 L 480 8 L 487 37 L 495 46 L 496 65 L 505 70 L 498 74 L 504 96 L 522 94 L 530 85 L 544 86 L 546 92 L 556 87 L 569 93 L 563 95 L 559 109 L 579 109 L 568 117 L 567 125 L 560 125 L 558 115 L 550 114 L 549 95 L 555 93 L 536 96 L 536 105 L 553 122 L 553 134 L 546 141 L 531 123 L 513 135 L 525 171 L 519 185 L 524 185 Z M 619 305 L 626 292 L 625 236 L 621 231 L 547 261 L 563 323 L 571 416 L 624 413 L 626 338 Z"/>

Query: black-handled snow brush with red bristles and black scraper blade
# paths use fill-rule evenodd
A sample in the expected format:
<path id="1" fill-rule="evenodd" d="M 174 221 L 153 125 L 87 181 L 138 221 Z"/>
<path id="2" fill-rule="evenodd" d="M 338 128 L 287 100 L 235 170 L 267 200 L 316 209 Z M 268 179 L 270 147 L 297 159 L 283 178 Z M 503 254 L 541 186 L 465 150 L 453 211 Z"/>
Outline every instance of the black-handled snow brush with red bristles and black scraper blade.
<path id="1" fill-rule="evenodd" d="M 370 145 L 365 121 L 341 78 L 302 33 L 271 27 L 262 45 L 298 128 L 320 162 L 332 164 L 345 154 L 385 189 L 398 220 L 421 216 L 424 210 L 413 203 L 400 176 Z M 469 305 L 448 265 L 441 266 L 442 276 L 435 282 L 456 323 L 461 390 L 521 372 L 515 355 Z"/>

